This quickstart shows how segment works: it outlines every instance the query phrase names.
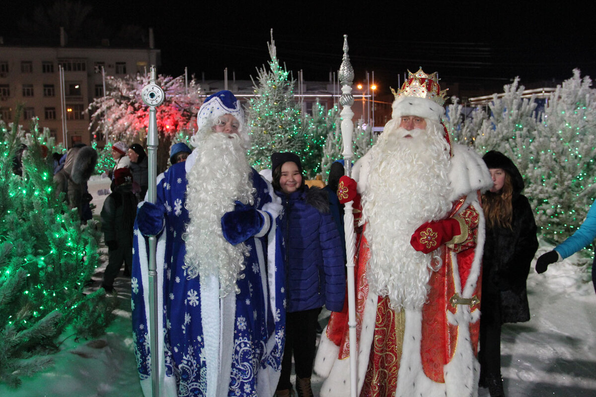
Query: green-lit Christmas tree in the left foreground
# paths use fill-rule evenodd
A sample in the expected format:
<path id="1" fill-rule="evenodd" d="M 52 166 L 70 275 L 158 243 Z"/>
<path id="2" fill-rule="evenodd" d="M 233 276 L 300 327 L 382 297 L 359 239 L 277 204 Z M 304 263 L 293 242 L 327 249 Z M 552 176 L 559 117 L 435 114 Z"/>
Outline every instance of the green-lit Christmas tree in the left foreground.
<path id="1" fill-rule="evenodd" d="M 26 135 L 17 121 L 0 120 L 0 134 L 0 382 L 17 387 L 51 365 L 67 328 L 82 337 L 104 333 L 114 302 L 103 289 L 83 293 L 98 264 L 98 230 L 93 221 L 81 226 L 55 194 L 41 146 L 55 151 L 52 142 L 36 126 Z M 17 176 L 13 158 L 24 142 Z"/>

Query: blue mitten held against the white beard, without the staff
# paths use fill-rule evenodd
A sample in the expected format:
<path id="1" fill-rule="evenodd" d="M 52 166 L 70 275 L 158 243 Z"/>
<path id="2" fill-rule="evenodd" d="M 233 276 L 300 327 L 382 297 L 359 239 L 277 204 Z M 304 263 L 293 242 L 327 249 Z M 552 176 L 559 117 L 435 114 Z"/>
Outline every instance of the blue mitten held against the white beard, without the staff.
<path id="1" fill-rule="evenodd" d="M 222 217 L 222 233 L 232 245 L 257 235 L 263 226 L 265 226 L 263 214 L 248 205 L 237 204 L 234 211 L 226 212 Z"/>

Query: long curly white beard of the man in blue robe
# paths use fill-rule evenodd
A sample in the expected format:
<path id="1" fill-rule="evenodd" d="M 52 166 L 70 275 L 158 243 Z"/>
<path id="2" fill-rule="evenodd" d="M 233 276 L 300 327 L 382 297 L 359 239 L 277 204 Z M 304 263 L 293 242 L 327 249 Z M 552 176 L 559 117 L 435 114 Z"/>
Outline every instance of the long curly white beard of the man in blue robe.
<path id="1" fill-rule="evenodd" d="M 197 161 L 188 172 L 185 207 L 190 216 L 184 268 L 189 279 L 219 275 L 219 293 L 236 289 L 248 248 L 224 239 L 221 218 L 234 210 L 234 201 L 253 204 L 254 187 L 241 140 L 236 135 L 210 133 L 200 143 Z"/>

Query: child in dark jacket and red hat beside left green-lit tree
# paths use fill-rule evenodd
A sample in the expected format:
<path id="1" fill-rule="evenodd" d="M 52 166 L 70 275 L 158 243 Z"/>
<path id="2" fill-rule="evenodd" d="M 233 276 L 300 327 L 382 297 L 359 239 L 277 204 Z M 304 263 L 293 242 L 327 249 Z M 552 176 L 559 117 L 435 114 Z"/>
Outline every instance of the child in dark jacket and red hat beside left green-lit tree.
<path id="1" fill-rule="evenodd" d="M 111 190 L 112 193 L 105 198 L 101 209 L 101 231 L 104 232 L 109 257 L 101 283 L 106 292 L 114 290 L 114 279 L 122 262 L 125 263 L 125 270 L 131 274 L 132 233 L 138 201 L 132 193 L 132 174 L 128 168 L 117 168 L 114 171 Z"/>

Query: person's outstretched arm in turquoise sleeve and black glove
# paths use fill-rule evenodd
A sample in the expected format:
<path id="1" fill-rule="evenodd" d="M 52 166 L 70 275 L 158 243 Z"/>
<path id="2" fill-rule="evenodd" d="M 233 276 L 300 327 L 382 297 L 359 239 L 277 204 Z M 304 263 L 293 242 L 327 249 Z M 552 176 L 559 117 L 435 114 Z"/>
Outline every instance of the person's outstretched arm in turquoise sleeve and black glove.
<path id="1" fill-rule="evenodd" d="M 578 230 L 572 236 L 560 243 L 552 251 L 542 254 L 536 261 L 536 273 L 544 273 L 547 271 L 548 265 L 554 262 L 562 261 L 567 257 L 578 252 L 586 245 L 592 242 L 596 237 L 596 206 L 592 205 L 586 215 L 585 221 L 579 226 Z M 594 265 L 596 258 L 592 263 L 592 284 L 594 285 L 594 292 L 596 292 L 596 270 Z"/>

